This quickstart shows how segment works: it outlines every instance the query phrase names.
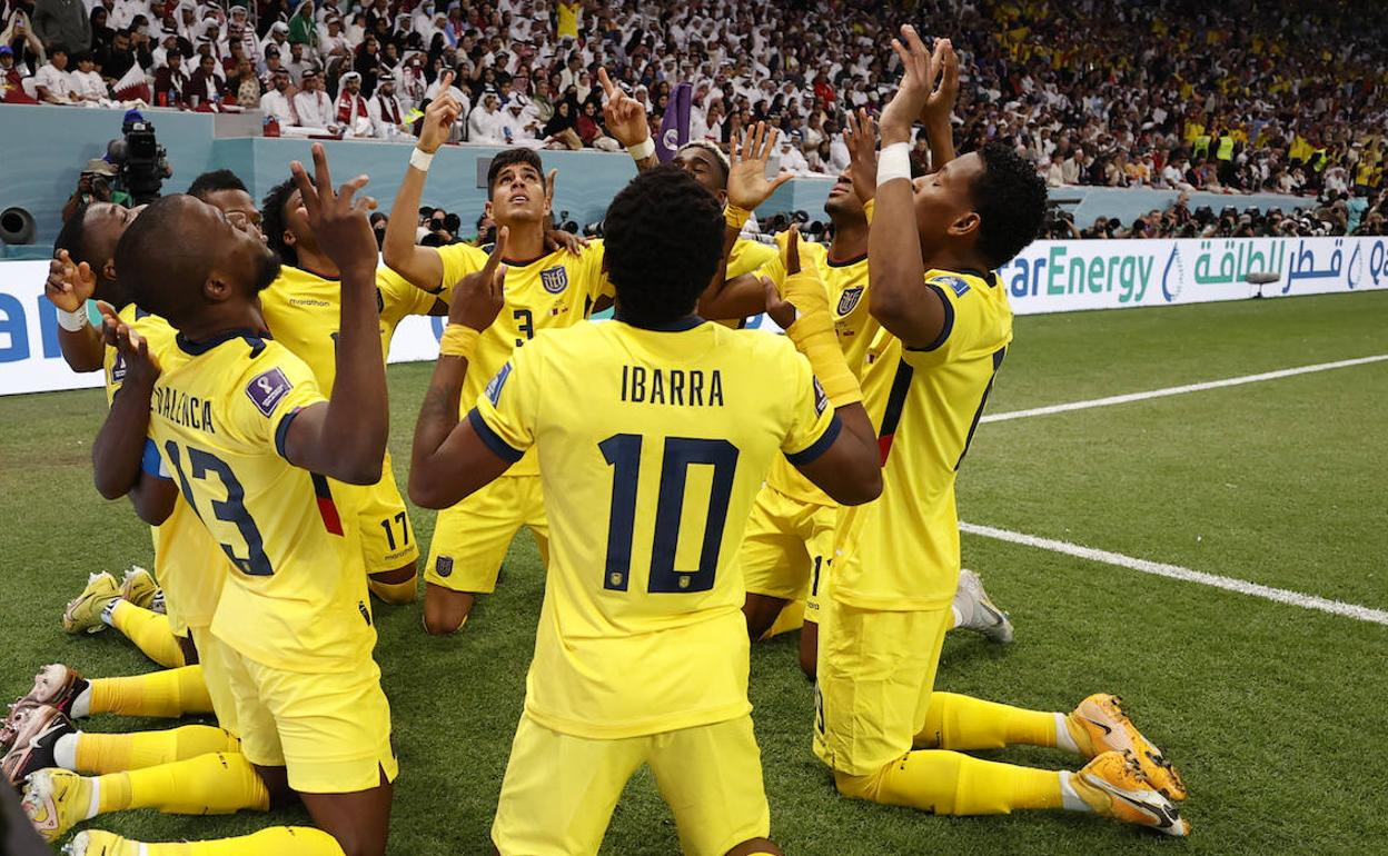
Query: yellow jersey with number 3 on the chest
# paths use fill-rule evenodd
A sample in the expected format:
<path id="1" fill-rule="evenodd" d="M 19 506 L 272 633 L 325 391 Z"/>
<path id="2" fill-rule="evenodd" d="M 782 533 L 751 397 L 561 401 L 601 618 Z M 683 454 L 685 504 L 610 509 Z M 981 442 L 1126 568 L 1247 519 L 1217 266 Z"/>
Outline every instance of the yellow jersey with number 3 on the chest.
<path id="1" fill-rule="evenodd" d="M 487 251 L 471 244 L 439 247 L 443 261 L 443 300 L 452 298 L 452 286 L 487 264 Z M 505 304 L 491 326 L 482 332 L 477 350 L 462 382 L 462 412 L 482 394 L 487 380 L 501 370 L 516 348 L 540 330 L 569 327 L 593 314 L 600 297 L 613 294 L 602 273 L 602 241 L 589 241 L 579 254 L 557 250 L 529 262 L 505 262 Z M 507 470 L 508 476 L 534 476 L 534 455 Z"/>

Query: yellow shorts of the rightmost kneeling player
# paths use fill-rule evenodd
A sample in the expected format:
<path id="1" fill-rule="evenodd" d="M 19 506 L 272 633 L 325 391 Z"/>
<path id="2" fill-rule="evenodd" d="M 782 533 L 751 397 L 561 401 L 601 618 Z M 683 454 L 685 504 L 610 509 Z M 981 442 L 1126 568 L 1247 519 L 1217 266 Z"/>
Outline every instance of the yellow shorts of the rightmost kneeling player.
<path id="1" fill-rule="evenodd" d="M 815 683 L 820 760 L 837 773 L 866 776 L 911 752 L 951 623 L 949 606 L 879 612 L 824 599 Z"/>

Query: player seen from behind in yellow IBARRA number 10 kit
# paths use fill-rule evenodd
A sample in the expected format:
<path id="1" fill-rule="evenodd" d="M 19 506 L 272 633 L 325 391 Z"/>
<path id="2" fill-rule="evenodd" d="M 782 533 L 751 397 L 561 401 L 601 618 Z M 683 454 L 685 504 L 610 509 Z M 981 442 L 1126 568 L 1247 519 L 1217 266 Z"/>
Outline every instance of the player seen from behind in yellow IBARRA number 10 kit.
<path id="1" fill-rule="evenodd" d="M 480 336 L 477 325 L 444 333 L 415 429 L 411 498 L 447 506 L 534 447 L 554 531 L 491 827 L 507 856 L 597 853 L 643 763 L 686 853 L 779 852 L 747 701 L 736 547 L 775 455 L 838 501 L 865 502 L 880 487 L 877 452 L 812 268 L 790 262 L 798 320 L 772 307 L 809 361 L 784 339 L 694 314 L 723 228 L 718 201 L 679 168 L 640 173 L 607 214 L 613 320 L 516 350 L 461 422 Z M 497 311 L 505 251 L 502 230 L 455 305 Z"/>

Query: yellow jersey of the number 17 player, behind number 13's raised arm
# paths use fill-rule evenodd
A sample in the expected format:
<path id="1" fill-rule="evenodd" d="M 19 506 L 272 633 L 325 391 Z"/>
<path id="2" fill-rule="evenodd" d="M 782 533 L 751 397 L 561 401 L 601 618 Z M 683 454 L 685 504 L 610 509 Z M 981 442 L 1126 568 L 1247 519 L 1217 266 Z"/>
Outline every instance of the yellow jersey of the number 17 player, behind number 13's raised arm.
<path id="1" fill-rule="evenodd" d="M 341 323 L 341 280 L 285 265 L 261 291 L 261 312 L 275 341 L 308 363 L 318 388 L 332 393 L 337 377 L 337 327 Z M 437 297 L 409 284 L 384 265 L 376 268 L 376 309 L 380 352 L 390 351 L 396 326 L 407 315 L 429 315 Z"/>

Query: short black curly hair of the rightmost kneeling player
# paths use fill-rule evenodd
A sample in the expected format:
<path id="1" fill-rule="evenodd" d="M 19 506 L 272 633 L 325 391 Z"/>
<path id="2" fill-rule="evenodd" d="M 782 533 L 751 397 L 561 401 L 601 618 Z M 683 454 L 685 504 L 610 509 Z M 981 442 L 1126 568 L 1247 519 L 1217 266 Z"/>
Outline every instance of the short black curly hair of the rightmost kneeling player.
<path id="1" fill-rule="evenodd" d="M 990 269 L 1001 268 L 1037 239 L 1045 219 L 1045 180 L 1030 161 L 1004 143 L 979 150 L 983 173 L 969 194 L 979 212 L 979 252 Z"/>

